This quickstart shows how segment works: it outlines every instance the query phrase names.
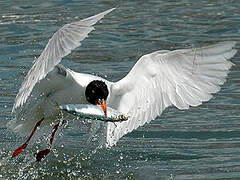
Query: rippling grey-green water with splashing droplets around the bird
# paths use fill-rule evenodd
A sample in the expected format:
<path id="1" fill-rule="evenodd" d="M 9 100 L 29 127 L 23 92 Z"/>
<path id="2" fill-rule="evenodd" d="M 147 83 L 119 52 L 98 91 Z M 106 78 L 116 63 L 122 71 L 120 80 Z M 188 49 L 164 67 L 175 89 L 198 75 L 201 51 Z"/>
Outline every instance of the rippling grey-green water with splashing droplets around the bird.
<path id="1" fill-rule="evenodd" d="M 86 151 L 83 127 L 74 121 L 60 130 L 54 152 L 41 163 L 34 162 L 33 154 L 47 141 L 38 135 L 22 155 L 11 159 L 24 138 L 5 126 L 13 118 L 14 98 L 33 60 L 63 24 L 118 7 L 63 60 L 75 71 L 115 81 L 143 54 L 159 49 L 225 40 L 238 41 L 239 49 L 237 0 L 33 0 L 1 1 L 0 6 L 0 179 L 240 178 L 240 53 L 210 102 L 188 111 L 167 109 L 110 150 Z"/>

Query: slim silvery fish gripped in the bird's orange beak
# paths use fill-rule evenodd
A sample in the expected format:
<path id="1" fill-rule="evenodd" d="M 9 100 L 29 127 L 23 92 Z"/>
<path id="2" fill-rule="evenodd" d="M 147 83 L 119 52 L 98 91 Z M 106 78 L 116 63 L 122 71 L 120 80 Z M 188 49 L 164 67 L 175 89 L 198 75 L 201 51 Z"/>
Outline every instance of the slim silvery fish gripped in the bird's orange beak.
<path id="1" fill-rule="evenodd" d="M 91 104 L 63 104 L 60 105 L 61 110 L 77 115 L 81 118 L 88 118 L 107 122 L 127 121 L 128 116 L 110 107 L 107 108 L 107 117 L 100 106 Z"/>

